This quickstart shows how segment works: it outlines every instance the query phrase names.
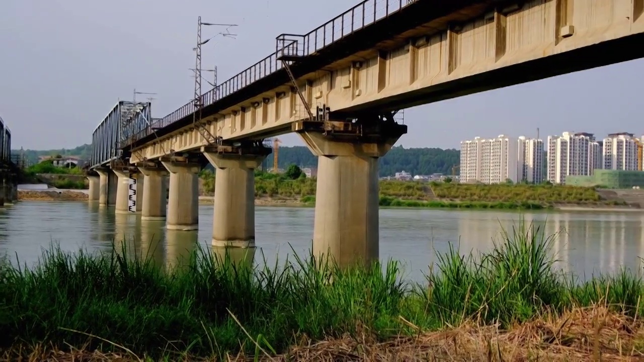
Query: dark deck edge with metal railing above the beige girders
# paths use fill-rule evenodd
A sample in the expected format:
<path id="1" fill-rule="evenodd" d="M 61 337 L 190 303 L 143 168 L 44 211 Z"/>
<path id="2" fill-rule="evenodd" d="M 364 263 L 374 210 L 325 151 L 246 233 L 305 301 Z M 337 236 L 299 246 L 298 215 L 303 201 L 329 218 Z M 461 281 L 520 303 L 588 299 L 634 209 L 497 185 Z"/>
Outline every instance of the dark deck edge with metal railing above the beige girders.
<path id="1" fill-rule="evenodd" d="M 432 20 L 477 6 L 477 12 L 496 0 L 365 0 L 359 5 L 319 26 L 298 45 L 299 61 L 291 69 L 296 78 L 322 70 L 334 62 L 373 48 L 386 48 L 392 37 L 401 37 L 408 30 Z M 471 14 L 468 14 L 471 15 Z M 427 31 L 428 29 L 424 29 Z M 288 34 L 284 34 L 288 35 Z M 282 35 L 281 35 L 282 36 Z M 278 61 L 280 49 L 252 65 L 214 90 L 202 96 L 202 117 L 209 117 L 257 95 L 289 82 L 287 72 Z M 153 125 L 156 133 L 146 130 L 129 148 L 151 142 L 193 122 L 194 106 L 190 102 Z"/>

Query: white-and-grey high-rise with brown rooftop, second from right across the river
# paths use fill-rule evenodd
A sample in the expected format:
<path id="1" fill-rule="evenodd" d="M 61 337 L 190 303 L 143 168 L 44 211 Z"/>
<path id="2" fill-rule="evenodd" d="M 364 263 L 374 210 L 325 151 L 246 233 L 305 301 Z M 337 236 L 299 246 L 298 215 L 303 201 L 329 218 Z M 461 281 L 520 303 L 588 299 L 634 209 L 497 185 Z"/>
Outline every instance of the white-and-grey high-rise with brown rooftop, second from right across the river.
<path id="1" fill-rule="evenodd" d="M 601 168 L 601 146 L 592 133 L 548 136 L 547 178 L 553 184 L 564 184 L 568 175 L 591 176 L 597 168 Z"/>

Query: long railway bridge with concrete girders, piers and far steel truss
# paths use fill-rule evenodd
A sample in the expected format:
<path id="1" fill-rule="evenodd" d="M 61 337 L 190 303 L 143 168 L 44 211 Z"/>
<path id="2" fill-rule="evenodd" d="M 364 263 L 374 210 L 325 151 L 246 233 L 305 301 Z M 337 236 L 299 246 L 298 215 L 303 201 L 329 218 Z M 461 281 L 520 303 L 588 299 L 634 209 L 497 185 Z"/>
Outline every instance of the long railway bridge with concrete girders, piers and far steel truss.
<path id="1" fill-rule="evenodd" d="M 279 35 L 274 53 L 210 91 L 197 84 L 162 119 L 150 104 L 118 104 L 93 135 L 91 195 L 194 229 L 209 162 L 213 244 L 252 247 L 262 141 L 296 132 L 318 156 L 314 252 L 372 260 L 377 158 L 408 131 L 397 111 L 643 57 L 643 13 L 644 0 L 365 0 L 307 34 Z"/>

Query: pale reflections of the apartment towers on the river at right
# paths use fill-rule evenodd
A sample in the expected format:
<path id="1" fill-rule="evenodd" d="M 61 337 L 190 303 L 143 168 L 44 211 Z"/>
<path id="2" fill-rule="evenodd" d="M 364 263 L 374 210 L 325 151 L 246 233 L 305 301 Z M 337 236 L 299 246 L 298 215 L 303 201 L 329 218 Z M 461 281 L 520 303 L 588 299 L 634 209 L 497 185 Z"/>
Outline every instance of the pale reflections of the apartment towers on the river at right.
<path id="1" fill-rule="evenodd" d="M 486 251 L 502 242 L 502 231 L 513 233 L 516 220 L 495 213 L 463 214 L 459 218 L 460 251 Z M 527 223 L 552 240 L 555 266 L 582 278 L 623 267 L 638 271 L 644 255 L 644 216 L 634 213 L 526 214 Z M 495 225 L 495 227 L 491 227 Z"/>

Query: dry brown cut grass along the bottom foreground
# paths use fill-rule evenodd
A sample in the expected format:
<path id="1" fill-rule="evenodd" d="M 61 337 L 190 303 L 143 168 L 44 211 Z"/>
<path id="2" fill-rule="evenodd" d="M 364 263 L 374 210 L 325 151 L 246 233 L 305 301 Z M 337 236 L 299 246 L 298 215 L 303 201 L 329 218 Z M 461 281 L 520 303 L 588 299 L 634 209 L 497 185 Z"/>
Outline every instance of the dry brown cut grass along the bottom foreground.
<path id="1" fill-rule="evenodd" d="M 544 316 L 509 330 L 473 322 L 438 332 L 419 333 L 379 342 L 368 332 L 317 343 L 302 343 L 263 361 L 644 361 L 644 324 L 605 307 L 575 309 L 563 316 Z M 144 361 L 145 358 L 100 352 L 61 352 L 54 348 L 14 348 L 3 361 Z M 205 361 L 176 354 L 169 361 Z M 211 359 L 214 360 L 214 359 Z M 249 361 L 230 356 L 229 361 Z"/>

